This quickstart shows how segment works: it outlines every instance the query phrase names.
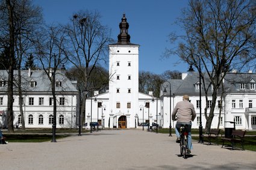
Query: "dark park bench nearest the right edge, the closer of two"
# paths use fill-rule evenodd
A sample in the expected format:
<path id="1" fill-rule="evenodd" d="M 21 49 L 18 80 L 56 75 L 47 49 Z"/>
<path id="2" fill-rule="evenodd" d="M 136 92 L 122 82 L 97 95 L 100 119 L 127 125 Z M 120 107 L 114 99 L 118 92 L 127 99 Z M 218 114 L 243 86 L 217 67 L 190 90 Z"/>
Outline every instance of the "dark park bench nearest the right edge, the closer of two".
<path id="1" fill-rule="evenodd" d="M 231 142 L 232 150 L 234 150 L 236 143 L 240 143 L 240 145 L 242 146 L 242 150 L 245 150 L 243 148 L 243 142 L 245 141 L 245 132 L 246 131 L 243 131 L 243 130 L 233 130 L 233 132 L 231 134 L 231 138 L 222 137 L 221 138 L 222 139 L 222 148 L 223 148 L 224 142 L 229 141 L 229 142 Z"/>

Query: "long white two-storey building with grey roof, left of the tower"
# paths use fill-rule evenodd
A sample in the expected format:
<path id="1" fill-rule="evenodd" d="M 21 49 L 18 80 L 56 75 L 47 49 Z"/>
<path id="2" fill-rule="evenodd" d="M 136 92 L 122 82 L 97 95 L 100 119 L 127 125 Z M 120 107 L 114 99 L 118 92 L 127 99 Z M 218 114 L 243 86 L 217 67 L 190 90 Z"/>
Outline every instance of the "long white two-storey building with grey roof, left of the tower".
<path id="1" fill-rule="evenodd" d="M 22 99 L 17 91 L 17 70 L 14 71 L 13 94 L 13 124 L 21 126 L 19 101 L 22 100 L 22 110 L 27 128 L 51 128 L 53 123 L 53 98 L 51 82 L 44 70 L 22 70 Z M 59 70 L 55 74 L 55 90 L 57 99 L 57 128 L 72 128 L 76 126 L 76 115 L 79 111 L 77 103 L 78 91 L 76 81 L 70 81 Z M 0 70 L 0 126 L 7 127 L 7 81 L 8 73 Z"/>

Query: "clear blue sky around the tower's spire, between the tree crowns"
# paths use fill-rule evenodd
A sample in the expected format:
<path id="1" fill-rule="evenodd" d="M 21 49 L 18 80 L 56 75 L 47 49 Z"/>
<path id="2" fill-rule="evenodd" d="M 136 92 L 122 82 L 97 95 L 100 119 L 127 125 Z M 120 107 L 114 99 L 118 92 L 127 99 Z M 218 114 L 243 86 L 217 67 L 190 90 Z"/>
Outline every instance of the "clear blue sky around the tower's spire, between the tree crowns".
<path id="1" fill-rule="evenodd" d="M 181 32 L 175 25 L 181 9 L 187 7 L 187 0 L 34 0 L 43 8 L 46 23 L 67 23 L 80 10 L 97 10 L 101 22 L 111 29 L 117 41 L 119 23 L 125 13 L 129 23 L 131 43 L 139 44 L 139 70 L 161 74 L 166 70 L 186 72 L 189 66 L 179 62 L 178 56 L 162 59 L 164 50 L 175 47 L 168 42 L 170 32 Z M 108 67 L 107 67 L 108 68 Z"/>

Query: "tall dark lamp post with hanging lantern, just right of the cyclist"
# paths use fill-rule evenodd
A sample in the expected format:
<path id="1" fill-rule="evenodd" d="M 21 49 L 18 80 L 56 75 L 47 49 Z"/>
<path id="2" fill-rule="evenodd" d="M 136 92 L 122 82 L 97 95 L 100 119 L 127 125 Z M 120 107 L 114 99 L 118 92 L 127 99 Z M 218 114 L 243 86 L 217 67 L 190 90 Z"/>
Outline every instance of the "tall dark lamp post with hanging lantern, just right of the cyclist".
<path id="1" fill-rule="evenodd" d="M 196 55 L 198 56 L 198 55 Z M 203 139 L 202 139 L 202 106 L 201 106 L 201 103 L 202 103 L 202 94 L 201 94 L 201 58 L 198 56 L 199 58 L 199 114 L 200 114 L 200 117 L 199 117 L 199 141 L 198 143 L 201 143 L 203 142 Z M 194 69 L 192 67 L 192 65 L 190 65 L 189 67 L 189 70 L 188 70 L 191 74 L 193 74 L 194 72 Z"/>

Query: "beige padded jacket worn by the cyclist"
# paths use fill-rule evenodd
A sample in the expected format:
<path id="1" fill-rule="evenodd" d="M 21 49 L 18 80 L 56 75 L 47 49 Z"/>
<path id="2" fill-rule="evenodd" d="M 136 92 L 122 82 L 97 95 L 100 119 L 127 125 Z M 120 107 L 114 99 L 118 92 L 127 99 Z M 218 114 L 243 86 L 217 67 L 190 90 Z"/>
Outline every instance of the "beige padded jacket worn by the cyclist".
<path id="1" fill-rule="evenodd" d="M 194 105 L 187 100 L 178 102 L 172 111 L 172 120 L 189 123 L 196 118 Z"/>

